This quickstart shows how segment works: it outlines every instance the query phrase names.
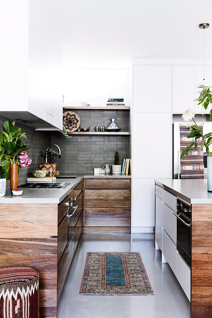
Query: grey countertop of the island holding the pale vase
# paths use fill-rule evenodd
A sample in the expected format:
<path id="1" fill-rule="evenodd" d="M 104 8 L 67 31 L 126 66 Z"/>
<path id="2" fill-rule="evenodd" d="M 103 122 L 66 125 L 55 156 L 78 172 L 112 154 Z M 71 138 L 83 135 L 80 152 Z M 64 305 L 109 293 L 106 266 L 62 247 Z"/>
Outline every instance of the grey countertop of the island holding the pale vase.
<path id="1" fill-rule="evenodd" d="M 207 179 L 155 179 L 154 182 L 189 204 L 212 204 Z"/>

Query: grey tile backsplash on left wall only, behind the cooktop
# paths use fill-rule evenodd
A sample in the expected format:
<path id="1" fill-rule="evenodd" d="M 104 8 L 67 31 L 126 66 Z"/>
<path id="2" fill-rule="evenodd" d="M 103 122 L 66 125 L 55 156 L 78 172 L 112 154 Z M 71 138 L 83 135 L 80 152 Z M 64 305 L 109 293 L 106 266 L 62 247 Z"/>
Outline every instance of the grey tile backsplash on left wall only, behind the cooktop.
<path id="1" fill-rule="evenodd" d="M 7 119 L 0 116 L 0 130 L 2 130 L 3 123 Z M 28 156 L 32 159 L 32 163 L 27 168 L 22 168 L 18 174 L 18 184 L 26 182 L 26 178 L 31 176 L 32 170 L 38 170 L 38 163 L 42 162 L 40 151 L 45 150 L 48 145 L 51 145 L 51 135 L 43 131 L 36 131 L 34 128 L 16 123 L 15 127 L 20 127 L 23 132 L 26 132 L 27 139 L 25 143 L 32 147 L 28 150 Z M 10 187 L 10 181 L 7 181 L 7 188 Z"/>

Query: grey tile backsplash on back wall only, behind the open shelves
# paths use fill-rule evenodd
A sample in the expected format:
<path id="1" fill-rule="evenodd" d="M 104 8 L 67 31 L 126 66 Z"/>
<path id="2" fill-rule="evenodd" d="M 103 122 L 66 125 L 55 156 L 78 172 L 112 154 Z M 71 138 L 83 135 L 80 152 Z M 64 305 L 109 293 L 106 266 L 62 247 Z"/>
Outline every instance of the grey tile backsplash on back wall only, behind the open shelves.
<path id="1" fill-rule="evenodd" d="M 129 131 L 129 111 L 89 111 L 79 110 L 80 127 L 95 131 L 95 126 L 109 126 L 111 117 L 121 131 Z M 72 135 L 72 138 L 52 135 L 52 143 L 61 149 L 61 159 L 57 160 L 60 173 L 93 173 L 93 168 L 104 164 L 114 164 L 116 151 L 120 164 L 129 158 L 129 135 Z"/>

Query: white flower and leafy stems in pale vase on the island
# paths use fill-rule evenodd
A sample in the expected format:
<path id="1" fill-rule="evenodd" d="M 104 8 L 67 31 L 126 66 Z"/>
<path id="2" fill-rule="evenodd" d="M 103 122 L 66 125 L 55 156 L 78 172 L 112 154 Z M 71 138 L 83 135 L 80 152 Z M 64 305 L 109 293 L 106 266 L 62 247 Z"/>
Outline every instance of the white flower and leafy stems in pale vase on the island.
<path id="1" fill-rule="evenodd" d="M 199 88 L 202 88 L 202 91 L 200 93 L 199 98 L 196 100 L 199 101 L 198 105 L 201 105 L 202 109 L 203 108 L 207 109 L 208 105 L 212 104 L 212 92 L 211 92 L 212 87 L 200 85 Z M 189 154 L 189 152 L 195 151 L 197 146 L 198 146 L 197 141 L 202 140 L 200 150 L 202 150 L 205 147 L 206 152 L 208 154 L 208 158 L 207 158 L 208 191 L 212 192 L 212 156 L 211 156 L 211 152 L 209 150 L 209 146 L 210 146 L 210 144 L 212 144 L 212 133 L 208 133 L 208 134 L 203 135 L 203 131 L 196 124 L 194 117 L 195 117 L 195 113 L 194 113 L 193 109 L 191 109 L 191 108 L 188 108 L 182 114 L 182 118 L 184 119 L 184 121 L 189 121 L 190 119 L 192 119 L 194 121 L 195 125 L 186 127 L 190 131 L 190 133 L 187 135 L 187 138 L 192 138 L 193 142 L 191 142 L 191 144 L 189 146 L 187 146 L 186 148 L 184 148 L 182 150 L 180 158 L 182 159 L 183 156 L 187 156 Z M 212 119 L 212 108 L 210 110 L 210 119 Z"/>

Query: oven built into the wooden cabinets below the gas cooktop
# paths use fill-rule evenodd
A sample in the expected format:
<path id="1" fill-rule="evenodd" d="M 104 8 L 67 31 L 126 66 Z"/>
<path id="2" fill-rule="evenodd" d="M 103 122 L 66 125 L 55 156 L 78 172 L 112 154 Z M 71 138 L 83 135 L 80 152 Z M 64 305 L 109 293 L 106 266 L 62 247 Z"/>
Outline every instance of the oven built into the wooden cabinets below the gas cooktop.
<path id="1" fill-rule="evenodd" d="M 72 198 L 68 201 L 68 263 L 74 250 L 74 214 L 78 208 L 78 205 L 75 206 L 73 202 L 75 200 Z"/>

